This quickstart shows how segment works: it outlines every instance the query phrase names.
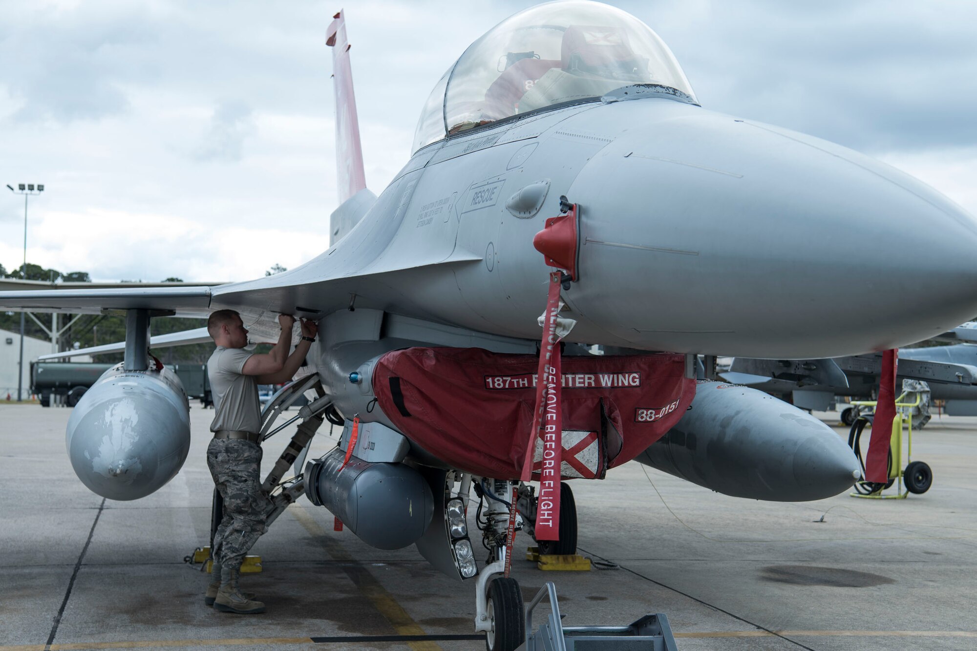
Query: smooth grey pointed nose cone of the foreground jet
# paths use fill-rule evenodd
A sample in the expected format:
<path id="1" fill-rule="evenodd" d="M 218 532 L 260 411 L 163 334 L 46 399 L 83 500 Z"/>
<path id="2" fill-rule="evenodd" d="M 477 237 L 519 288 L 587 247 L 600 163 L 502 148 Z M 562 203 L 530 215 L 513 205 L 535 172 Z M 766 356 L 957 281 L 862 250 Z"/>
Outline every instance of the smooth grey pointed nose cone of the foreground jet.
<path id="1" fill-rule="evenodd" d="M 571 300 L 610 333 L 651 350 L 825 358 L 977 314 L 977 221 L 955 203 L 827 141 L 665 103 L 622 103 L 647 129 L 595 155 L 568 194 L 583 206 Z"/>

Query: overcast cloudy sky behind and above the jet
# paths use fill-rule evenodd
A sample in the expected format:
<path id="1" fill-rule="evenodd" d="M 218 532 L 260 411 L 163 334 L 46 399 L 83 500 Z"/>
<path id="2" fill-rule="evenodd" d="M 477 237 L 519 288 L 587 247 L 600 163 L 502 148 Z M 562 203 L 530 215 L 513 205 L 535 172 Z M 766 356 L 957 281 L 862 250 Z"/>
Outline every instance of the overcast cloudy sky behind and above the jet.
<path id="1" fill-rule="evenodd" d="M 332 14 L 379 195 L 447 66 L 532 4 L 0 0 L 0 264 L 22 257 L 7 183 L 46 185 L 27 259 L 63 272 L 240 281 L 301 264 L 337 202 Z M 658 32 L 703 107 L 869 153 L 977 213 L 977 2 L 611 4 Z"/>

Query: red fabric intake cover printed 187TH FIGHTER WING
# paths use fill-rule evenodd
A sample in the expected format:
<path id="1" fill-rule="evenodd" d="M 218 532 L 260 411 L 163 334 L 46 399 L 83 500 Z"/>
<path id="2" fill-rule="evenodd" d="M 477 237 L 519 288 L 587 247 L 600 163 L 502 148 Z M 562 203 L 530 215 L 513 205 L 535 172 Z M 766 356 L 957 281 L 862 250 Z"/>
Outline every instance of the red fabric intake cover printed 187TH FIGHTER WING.
<path id="1" fill-rule="evenodd" d="M 515 480 L 530 439 L 538 361 L 481 348 L 407 348 L 380 358 L 373 392 L 428 453 L 466 472 Z M 563 358 L 563 476 L 602 477 L 638 456 L 695 394 L 683 355 Z M 584 467 L 588 459 L 598 467 Z"/>

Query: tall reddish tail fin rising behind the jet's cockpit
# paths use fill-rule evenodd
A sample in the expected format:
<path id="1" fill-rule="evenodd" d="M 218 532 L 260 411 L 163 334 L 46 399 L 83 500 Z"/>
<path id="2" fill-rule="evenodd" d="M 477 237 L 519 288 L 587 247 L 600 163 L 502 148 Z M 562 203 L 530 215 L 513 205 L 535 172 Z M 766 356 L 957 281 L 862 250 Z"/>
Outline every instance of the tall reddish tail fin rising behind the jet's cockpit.
<path id="1" fill-rule="evenodd" d="M 353 94 L 350 44 L 346 40 L 343 12 L 333 17 L 325 34 L 332 48 L 332 87 L 336 91 L 336 172 L 339 176 L 339 202 L 366 188 L 363 153 L 360 145 L 360 120 Z"/>

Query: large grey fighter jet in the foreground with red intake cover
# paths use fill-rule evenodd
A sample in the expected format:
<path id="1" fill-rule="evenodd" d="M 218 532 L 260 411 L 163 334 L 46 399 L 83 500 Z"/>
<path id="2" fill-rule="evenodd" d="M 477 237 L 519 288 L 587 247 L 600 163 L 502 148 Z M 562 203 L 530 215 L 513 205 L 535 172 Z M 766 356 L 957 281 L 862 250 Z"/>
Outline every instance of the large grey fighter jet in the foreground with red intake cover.
<path id="1" fill-rule="evenodd" d="M 694 354 L 853 355 L 977 314 L 970 215 L 860 153 L 701 107 L 658 35 L 615 8 L 553 2 L 489 29 L 435 84 L 379 196 L 363 183 L 341 15 L 327 43 L 343 203 L 319 257 L 210 288 L 0 294 L 8 310 L 126 312 L 125 362 L 68 425 L 73 466 L 101 495 L 147 495 L 187 456 L 179 381 L 148 368 L 152 316 L 234 309 L 259 340 L 278 314 L 314 319 L 315 374 L 295 390 L 317 398 L 266 488 L 279 502 L 304 492 L 362 540 L 416 544 L 475 579 L 475 628 L 511 649 L 524 624 L 507 545 L 522 527 L 572 551 L 560 479 L 602 478 L 673 428 L 670 449 L 726 451 L 721 476 L 705 468 L 700 483 L 743 497 L 821 499 L 858 478 L 808 414 L 744 387 L 697 387 Z M 825 237 L 841 230 L 840 243 Z M 913 255 L 893 255 L 910 231 Z M 842 284 L 863 297 L 858 311 L 836 309 Z M 915 297 L 912 311 L 897 292 Z M 589 355 L 592 344 L 618 354 Z M 344 423 L 343 443 L 302 468 L 323 415 Z M 680 462 L 671 455 L 654 463 Z M 302 472 L 282 485 L 289 465 Z M 472 491 L 490 549 L 481 567 Z"/>

